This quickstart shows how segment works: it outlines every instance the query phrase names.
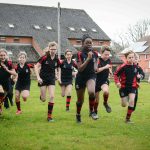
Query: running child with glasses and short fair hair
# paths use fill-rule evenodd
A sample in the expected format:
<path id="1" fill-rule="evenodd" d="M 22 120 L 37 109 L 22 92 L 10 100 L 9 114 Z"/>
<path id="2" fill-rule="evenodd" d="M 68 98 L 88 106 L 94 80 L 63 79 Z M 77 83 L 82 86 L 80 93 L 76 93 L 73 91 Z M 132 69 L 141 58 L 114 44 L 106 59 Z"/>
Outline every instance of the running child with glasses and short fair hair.
<path id="1" fill-rule="evenodd" d="M 40 99 L 43 102 L 46 100 L 47 88 L 50 96 L 48 102 L 48 115 L 47 115 L 48 122 L 54 121 L 52 118 L 52 111 L 54 106 L 56 70 L 58 69 L 58 74 L 60 72 L 59 69 L 60 60 L 56 56 L 56 52 L 57 52 L 57 43 L 50 42 L 46 54 L 42 56 L 35 65 L 35 73 L 37 76 L 38 85 L 41 90 Z"/>

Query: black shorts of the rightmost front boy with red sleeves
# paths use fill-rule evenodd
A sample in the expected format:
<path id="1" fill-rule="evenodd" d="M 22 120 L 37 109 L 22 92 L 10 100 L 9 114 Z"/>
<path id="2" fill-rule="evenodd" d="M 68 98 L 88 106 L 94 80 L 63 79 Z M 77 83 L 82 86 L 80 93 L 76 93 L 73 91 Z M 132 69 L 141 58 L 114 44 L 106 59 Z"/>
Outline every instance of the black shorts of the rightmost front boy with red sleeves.
<path id="1" fill-rule="evenodd" d="M 137 88 L 129 87 L 129 88 L 121 88 L 121 89 L 119 89 L 120 97 L 126 97 L 130 93 L 136 94 L 137 93 Z"/>

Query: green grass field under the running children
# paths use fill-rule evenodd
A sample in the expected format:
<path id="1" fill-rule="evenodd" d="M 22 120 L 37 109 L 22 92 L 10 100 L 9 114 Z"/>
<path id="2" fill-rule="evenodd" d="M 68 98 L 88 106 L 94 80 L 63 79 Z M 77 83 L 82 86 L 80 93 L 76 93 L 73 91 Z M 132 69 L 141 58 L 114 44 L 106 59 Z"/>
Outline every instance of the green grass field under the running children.
<path id="1" fill-rule="evenodd" d="M 46 121 L 47 102 L 39 100 L 39 88 L 32 82 L 28 101 L 21 101 L 23 113 L 16 106 L 0 116 L 0 150 L 150 150 L 150 84 L 141 83 L 134 124 L 125 124 L 127 108 L 120 106 L 118 89 L 110 84 L 112 113 L 106 113 L 100 102 L 100 119 L 88 116 L 88 97 L 82 108 L 82 123 L 75 121 L 76 94 L 73 89 L 70 112 L 65 111 L 65 98 L 56 87 L 55 122 Z"/>

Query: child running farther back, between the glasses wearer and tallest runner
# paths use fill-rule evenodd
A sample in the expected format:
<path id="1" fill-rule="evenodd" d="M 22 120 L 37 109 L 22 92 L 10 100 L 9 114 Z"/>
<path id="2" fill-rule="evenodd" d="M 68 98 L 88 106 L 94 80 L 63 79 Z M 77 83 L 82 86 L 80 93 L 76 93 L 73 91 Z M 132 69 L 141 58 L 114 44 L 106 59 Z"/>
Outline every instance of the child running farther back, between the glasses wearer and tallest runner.
<path id="1" fill-rule="evenodd" d="M 77 64 L 72 60 L 72 51 L 66 50 L 65 59 L 61 61 L 60 68 L 61 73 L 58 82 L 61 86 L 61 95 L 66 96 L 66 111 L 69 111 L 72 91 L 73 69 L 77 68 Z"/>

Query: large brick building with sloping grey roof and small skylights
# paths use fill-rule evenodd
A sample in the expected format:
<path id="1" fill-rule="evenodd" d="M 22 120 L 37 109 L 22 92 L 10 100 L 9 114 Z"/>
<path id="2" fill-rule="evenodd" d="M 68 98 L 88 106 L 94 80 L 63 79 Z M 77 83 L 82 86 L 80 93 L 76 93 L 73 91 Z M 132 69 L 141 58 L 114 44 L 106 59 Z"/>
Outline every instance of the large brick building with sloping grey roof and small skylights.
<path id="1" fill-rule="evenodd" d="M 111 39 L 84 10 L 61 8 L 60 22 L 61 55 L 66 49 L 76 54 L 83 34 L 93 38 L 95 50 L 110 45 Z M 29 61 L 36 62 L 50 41 L 57 42 L 57 8 L 0 4 L 0 47 L 9 51 L 13 61 L 25 51 Z"/>

